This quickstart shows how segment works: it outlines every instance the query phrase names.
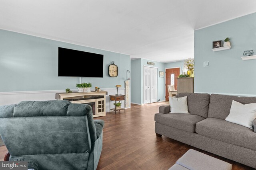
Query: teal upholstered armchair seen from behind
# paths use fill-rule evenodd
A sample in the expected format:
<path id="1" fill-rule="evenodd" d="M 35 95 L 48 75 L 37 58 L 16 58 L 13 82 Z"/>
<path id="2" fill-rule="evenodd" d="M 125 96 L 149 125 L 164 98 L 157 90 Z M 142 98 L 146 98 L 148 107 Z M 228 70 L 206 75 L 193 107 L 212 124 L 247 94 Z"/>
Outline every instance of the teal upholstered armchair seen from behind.
<path id="1" fill-rule="evenodd" d="M 103 127 L 86 104 L 52 100 L 0 106 L 0 135 L 9 159 L 33 158 L 41 170 L 96 170 Z"/>

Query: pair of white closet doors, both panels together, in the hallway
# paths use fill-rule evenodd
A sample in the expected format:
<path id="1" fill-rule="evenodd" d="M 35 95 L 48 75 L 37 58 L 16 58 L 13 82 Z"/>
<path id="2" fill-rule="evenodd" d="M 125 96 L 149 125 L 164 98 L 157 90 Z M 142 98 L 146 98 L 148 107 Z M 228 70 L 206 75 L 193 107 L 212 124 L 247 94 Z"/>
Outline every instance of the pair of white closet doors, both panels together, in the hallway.
<path id="1" fill-rule="evenodd" d="M 143 104 L 157 102 L 157 68 L 143 68 Z"/>

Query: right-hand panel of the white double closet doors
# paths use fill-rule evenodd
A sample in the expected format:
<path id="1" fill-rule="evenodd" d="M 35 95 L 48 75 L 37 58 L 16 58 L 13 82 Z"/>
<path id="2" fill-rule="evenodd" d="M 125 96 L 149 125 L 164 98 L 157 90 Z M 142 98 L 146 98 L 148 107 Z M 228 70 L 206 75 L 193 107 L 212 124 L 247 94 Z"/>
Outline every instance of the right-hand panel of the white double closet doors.
<path id="1" fill-rule="evenodd" d="M 157 68 L 151 68 L 151 97 L 150 103 L 157 102 Z"/>

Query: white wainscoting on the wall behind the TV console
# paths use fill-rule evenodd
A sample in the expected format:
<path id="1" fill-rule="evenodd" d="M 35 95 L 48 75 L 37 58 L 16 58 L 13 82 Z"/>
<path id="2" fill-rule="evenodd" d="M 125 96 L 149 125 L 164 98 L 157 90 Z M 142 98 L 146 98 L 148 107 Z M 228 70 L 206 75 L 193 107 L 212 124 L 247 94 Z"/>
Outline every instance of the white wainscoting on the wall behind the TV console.
<path id="1" fill-rule="evenodd" d="M 94 89 L 92 88 L 91 91 Z M 109 95 L 116 94 L 116 88 L 101 88 L 100 90 L 107 91 L 106 95 L 106 112 L 109 112 Z M 56 93 L 63 93 L 65 90 L 43 90 L 43 91 L 24 91 L 24 92 L 0 92 L 0 106 L 8 104 L 17 104 L 24 100 L 55 100 Z M 72 90 L 77 92 L 77 90 Z M 118 88 L 118 94 L 125 94 L 125 88 Z M 122 101 L 124 107 L 125 101 Z M 111 108 L 114 105 L 111 102 Z M 130 108 L 130 107 L 126 107 Z"/>

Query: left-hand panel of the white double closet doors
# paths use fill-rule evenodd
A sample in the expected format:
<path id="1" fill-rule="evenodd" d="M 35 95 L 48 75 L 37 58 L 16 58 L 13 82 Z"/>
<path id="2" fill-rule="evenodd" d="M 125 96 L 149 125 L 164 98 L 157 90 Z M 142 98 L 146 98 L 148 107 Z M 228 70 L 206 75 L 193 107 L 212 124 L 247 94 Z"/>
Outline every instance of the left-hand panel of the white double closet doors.
<path id="1" fill-rule="evenodd" d="M 143 103 L 148 104 L 150 103 L 150 78 L 151 78 L 151 68 L 144 67 L 143 71 Z"/>

